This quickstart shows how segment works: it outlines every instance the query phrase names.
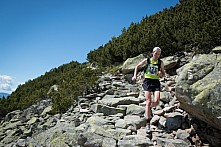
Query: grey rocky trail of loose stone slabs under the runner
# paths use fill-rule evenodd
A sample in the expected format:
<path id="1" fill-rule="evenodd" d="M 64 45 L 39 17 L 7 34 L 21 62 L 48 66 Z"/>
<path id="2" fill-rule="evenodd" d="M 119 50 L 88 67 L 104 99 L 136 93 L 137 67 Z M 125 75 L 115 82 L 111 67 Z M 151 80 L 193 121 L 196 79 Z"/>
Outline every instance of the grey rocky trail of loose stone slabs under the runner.
<path id="1" fill-rule="evenodd" d="M 142 76 L 105 74 L 98 87 L 78 97 L 76 107 L 50 115 L 51 99 L 7 114 L 0 122 L 0 147 L 219 146 L 221 131 L 180 108 L 177 75 L 162 78 L 161 100 L 152 108 L 151 135 L 145 133 Z"/>

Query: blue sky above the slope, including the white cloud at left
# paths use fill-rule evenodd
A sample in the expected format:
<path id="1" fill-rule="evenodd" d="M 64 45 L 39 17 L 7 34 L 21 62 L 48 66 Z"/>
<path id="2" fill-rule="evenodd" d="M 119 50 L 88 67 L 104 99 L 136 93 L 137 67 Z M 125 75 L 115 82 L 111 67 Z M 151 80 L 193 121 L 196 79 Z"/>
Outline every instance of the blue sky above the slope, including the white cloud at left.
<path id="1" fill-rule="evenodd" d="M 0 0 L 0 92 L 106 44 L 179 0 Z"/>

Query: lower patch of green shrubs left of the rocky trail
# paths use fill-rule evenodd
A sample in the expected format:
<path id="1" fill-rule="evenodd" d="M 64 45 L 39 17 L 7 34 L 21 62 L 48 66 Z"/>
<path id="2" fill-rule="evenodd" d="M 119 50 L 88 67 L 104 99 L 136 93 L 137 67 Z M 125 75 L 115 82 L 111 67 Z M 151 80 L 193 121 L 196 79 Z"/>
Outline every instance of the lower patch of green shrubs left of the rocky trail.
<path id="1" fill-rule="evenodd" d="M 86 63 L 70 62 L 54 68 L 44 75 L 19 85 L 7 99 L 0 100 L 0 117 L 16 109 L 25 109 L 48 97 L 53 100 L 52 113 L 64 112 L 76 104 L 78 96 L 92 90 L 101 70 L 92 70 Z M 57 86 L 58 91 L 51 90 Z"/>

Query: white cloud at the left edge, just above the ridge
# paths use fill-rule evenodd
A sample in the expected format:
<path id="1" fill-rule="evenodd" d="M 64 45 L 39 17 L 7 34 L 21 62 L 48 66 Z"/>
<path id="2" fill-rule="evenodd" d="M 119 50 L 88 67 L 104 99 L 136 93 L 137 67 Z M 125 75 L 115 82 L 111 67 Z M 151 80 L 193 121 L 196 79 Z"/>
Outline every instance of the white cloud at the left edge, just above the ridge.
<path id="1" fill-rule="evenodd" d="M 0 92 L 11 93 L 14 80 L 12 77 L 7 75 L 0 75 Z"/>

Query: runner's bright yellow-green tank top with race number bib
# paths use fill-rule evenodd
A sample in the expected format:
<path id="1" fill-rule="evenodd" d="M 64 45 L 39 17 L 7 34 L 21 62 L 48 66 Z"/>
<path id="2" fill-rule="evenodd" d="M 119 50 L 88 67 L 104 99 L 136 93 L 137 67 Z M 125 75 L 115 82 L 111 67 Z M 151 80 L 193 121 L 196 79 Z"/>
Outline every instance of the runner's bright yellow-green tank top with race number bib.
<path id="1" fill-rule="evenodd" d="M 144 77 L 148 79 L 159 79 L 160 77 L 157 74 L 159 71 L 158 68 L 158 60 L 152 61 L 152 59 L 150 59 L 150 63 L 147 65 L 146 71 L 144 73 Z"/>

